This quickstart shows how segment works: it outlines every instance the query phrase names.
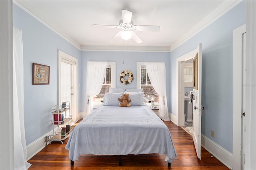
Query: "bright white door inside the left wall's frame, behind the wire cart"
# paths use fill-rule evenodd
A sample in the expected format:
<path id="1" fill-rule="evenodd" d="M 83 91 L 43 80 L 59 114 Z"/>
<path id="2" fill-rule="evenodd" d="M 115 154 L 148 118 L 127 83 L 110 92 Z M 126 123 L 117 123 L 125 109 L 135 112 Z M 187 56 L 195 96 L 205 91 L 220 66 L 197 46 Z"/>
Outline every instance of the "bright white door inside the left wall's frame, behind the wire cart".
<path id="1" fill-rule="evenodd" d="M 61 62 L 61 103 L 62 102 L 70 102 L 72 105 L 72 65 L 69 63 Z M 72 109 L 70 110 L 70 114 Z"/>

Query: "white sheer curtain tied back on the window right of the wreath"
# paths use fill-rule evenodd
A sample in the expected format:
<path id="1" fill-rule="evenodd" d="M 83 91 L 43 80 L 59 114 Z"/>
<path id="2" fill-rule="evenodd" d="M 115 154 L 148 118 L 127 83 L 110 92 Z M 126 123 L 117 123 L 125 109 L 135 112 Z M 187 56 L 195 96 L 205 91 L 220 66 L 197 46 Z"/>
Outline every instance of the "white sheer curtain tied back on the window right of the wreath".
<path id="1" fill-rule="evenodd" d="M 165 63 L 146 63 L 146 69 L 151 84 L 158 93 L 159 117 L 164 121 L 170 121 L 166 98 Z"/>

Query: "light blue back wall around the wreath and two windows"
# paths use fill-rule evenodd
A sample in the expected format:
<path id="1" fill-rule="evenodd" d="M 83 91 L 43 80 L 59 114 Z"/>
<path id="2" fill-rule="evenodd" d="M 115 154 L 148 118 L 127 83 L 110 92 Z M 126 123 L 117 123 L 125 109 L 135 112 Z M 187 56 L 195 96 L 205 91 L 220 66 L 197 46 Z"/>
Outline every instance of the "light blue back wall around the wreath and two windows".
<path id="1" fill-rule="evenodd" d="M 124 57 L 124 63 L 123 63 Z M 137 62 L 164 62 L 166 66 L 166 93 L 170 110 L 170 53 L 169 52 L 118 52 L 118 51 L 82 51 L 81 55 L 81 108 L 84 110 L 86 97 L 87 61 L 116 61 L 116 88 L 136 89 Z M 129 85 L 123 85 L 119 74 L 128 69 L 135 79 Z"/>

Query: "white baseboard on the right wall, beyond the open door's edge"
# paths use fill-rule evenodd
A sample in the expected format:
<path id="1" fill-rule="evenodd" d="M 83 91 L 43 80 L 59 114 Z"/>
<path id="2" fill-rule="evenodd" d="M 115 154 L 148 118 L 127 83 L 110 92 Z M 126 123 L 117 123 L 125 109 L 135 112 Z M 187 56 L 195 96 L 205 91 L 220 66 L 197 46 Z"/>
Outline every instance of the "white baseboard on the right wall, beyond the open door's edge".
<path id="1" fill-rule="evenodd" d="M 216 144 L 203 134 L 201 135 L 201 145 L 220 162 L 222 162 L 228 168 L 232 169 L 232 153 L 228 152 L 228 150 L 222 148 L 220 145 Z"/>

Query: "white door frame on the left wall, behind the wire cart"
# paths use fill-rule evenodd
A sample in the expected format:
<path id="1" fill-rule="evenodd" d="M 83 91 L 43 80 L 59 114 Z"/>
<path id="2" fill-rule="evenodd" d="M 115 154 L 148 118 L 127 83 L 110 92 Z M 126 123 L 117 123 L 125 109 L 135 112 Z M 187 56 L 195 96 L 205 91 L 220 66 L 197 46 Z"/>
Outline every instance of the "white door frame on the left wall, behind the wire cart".
<path id="1" fill-rule="evenodd" d="M 67 53 L 64 53 L 63 51 L 58 50 L 58 104 L 61 105 L 61 76 L 60 76 L 60 70 L 61 70 L 61 61 L 66 60 L 70 61 L 73 66 L 72 73 L 74 74 L 73 76 L 73 105 L 75 107 L 71 108 L 72 109 L 72 120 L 77 121 L 78 120 L 78 59 L 75 57 L 72 57 L 71 55 L 68 55 Z"/>

